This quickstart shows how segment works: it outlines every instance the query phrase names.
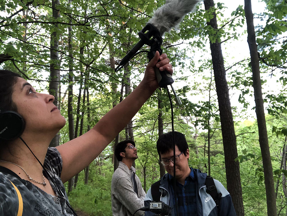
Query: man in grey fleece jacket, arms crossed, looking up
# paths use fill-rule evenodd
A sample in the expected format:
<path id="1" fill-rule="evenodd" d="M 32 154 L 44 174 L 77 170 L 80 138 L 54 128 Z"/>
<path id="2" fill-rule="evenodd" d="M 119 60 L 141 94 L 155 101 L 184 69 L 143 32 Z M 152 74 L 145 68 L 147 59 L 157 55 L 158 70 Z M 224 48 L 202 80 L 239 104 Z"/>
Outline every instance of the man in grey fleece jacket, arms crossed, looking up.
<path id="1" fill-rule="evenodd" d="M 141 186 L 139 177 L 132 166 L 137 159 L 137 148 L 132 140 L 119 142 L 115 147 L 115 156 L 119 167 L 112 177 L 112 212 L 113 216 L 132 216 L 139 208 L 144 207 L 146 193 Z M 144 215 L 137 211 L 135 215 Z"/>

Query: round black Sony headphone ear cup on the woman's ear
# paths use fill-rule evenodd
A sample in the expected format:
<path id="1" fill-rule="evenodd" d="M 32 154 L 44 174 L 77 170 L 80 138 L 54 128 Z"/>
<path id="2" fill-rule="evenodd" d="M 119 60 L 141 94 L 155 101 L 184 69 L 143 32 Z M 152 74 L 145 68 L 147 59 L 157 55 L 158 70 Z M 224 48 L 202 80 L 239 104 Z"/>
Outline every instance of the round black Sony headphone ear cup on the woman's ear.
<path id="1" fill-rule="evenodd" d="M 17 139 L 25 129 L 25 120 L 17 112 L 5 111 L 0 113 L 0 139 Z"/>

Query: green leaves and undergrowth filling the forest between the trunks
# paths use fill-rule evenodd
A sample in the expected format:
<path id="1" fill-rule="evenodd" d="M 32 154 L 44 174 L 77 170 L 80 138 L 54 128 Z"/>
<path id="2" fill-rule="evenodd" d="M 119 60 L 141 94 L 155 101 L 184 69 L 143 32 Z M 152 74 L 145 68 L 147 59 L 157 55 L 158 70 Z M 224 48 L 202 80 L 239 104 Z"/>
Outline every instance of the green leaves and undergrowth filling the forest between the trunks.
<path id="1" fill-rule="evenodd" d="M 122 1 L 123 2 L 123 1 Z M 282 86 L 280 93 L 265 89 L 264 102 L 267 116 L 268 138 L 274 167 L 274 179 L 280 183 L 279 195 L 285 197 L 282 189 L 282 176 L 286 170 L 280 168 L 286 127 L 286 14 L 285 1 L 265 0 L 267 10 L 255 16 L 263 20 L 256 28 L 256 38 L 261 71 L 272 73 Z M 241 2 L 240 2 L 241 3 Z M 67 118 L 67 96 L 65 89 L 74 84 L 73 116 L 83 121 L 83 131 L 92 127 L 99 119 L 117 104 L 121 95 L 121 84 L 131 79 L 131 90 L 135 88 L 144 74 L 147 64 L 145 54 L 133 58 L 128 65 L 128 74 L 123 70 L 117 73 L 110 67 L 110 58 L 119 62 L 135 45 L 137 33 L 145 26 L 154 9 L 164 1 L 83 1 L 73 0 L 57 5 L 60 18 L 53 18 L 51 1 L 0 0 L 0 54 L 12 56 L 13 61 L 5 61 L 3 68 L 9 68 L 38 81 L 40 91 L 48 89 L 44 82 L 49 79 L 53 31 L 58 33 L 59 61 L 61 61 L 61 110 Z M 226 7 L 216 2 L 214 8 L 205 11 L 199 4 L 196 12 L 188 14 L 177 29 L 164 35 L 162 49 L 168 54 L 174 67 L 174 79 L 181 83 L 176 89 L 183 105 L 174 107 L 175 129 L 186 135 L 190 149 L 189 164 L 208 172 L 208 139 L 211 144 L 211 174 L 226 186 L 225 160 L 222 144 L 221 125 L 216 98 L 216 86 L 212 75 L 212 62 L 209 42 L 218 42 L 222 47 L 238 41 L 245 35 L 245 12 L 243 5 L 231 14 L 224 14 Z M 23 11 L 19 11 L 23 9 Z M 213 29 L 207 22 L 216 13 L 218 29 Z M 150 17 L 149 17 L 150 16 Z M 68 47 L 69 21 L 72 24 L 72 65 Z M 227 45 L 226 45 L 227 44 Z M 148 46 L 142 48 L 148 50 Z M 236 51 L 232 51 L 235 52 Z M 253 97 L 250 60 L 244 56 L 230 58 L 224 62 L 230 91 L 237 90 L 238 101 L 243 104 L 243 112 L 234 110 L 234 118 L 245 118 L 244 110 L 250 107 L 249 97 Z M 72 66 L 73 71 L 69 71 Z M 69 80 L 68 74 L 73 75 Z M 192 77 L 191 83 L 189 83 Z M 262 85 L 269 77 L 262 77 Z M 89 111 L 87 102 L 83 102 L 83 91 L 79 104 L 80 113 L 76 112 L 79 84 L 89 90 Z M 263 88 L 264 91 L 264 88 Z M 126 94 L 126 95 L 125 95 Z M 123 92 L 123 98 L 127 93 Z M 65 97 L 65 98 L 64 98 Z M 172 96 L 173 97 L 173 96 Z M 160 100 L 160 107 L 158 107 Z M 162 113 L 164 132 L 171 131 L 170 104 L 167 92 L 158 89 L 140 109 L 133 119 L 134 139 L 138 147 L 139 159 L 136 160 L 137 174 L 147 191 L 150 185 L 159 179 L 158 153 L 158 115 Z M 235 107 L 237 108 L 237 107 Z M 83 116 L 82 116 L 83 113 Z M 90 114 L 90 118 L 87 117 Z M 255 114 L 254 114 L 255 116 Z M 74 122 L 75 124 L 75 122 Z M 256 122 L 235 121 L 238 157 L 240 162 L 241 183 L 245 213 L 248 216 L 266 215 L 266 196 L 264 188 L 263 165 L 258 143 Z M 208 130 L 211 135 L 208 137 Z M 78 131 L 79 134 L 79 131 Z M 69 140 L 68 125 L 61 131 L 61 143 Z M 196 136 L 198 135 L 198 136 Z M 120 133 L 120 140 L 125 139 L 125 132 Z M 79 174 L 77 187 L 69 194 L 72 206 L 90 215 L 111 215 L 110 181 L 113 174 L 113 147 L 109 145 L 90 165 L 90 176 L 84 184 L 84 172 Z M 145 182 L 144 182 L 145 179 Z M 67 185 L 66 185 L 67 186 Z M 281 199 L 284 200 L 284 199 Z M 284 200 L 285 201 L 285 200 Z M 278 209 L 284 207 L 278 201 Z M 286 207 L 285 207 L 286 208 Z M 282 211 L 283 212 L 283 211 Z"/>

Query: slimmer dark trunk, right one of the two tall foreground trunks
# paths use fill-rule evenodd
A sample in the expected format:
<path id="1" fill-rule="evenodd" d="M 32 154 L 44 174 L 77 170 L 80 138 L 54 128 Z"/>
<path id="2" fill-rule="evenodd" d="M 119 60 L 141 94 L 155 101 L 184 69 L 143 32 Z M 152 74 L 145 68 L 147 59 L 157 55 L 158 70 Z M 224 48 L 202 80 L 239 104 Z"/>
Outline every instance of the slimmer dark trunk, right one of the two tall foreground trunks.
<path id="1" fill-rule="evenodd" d="M 273 169 L 268 145 L 268 136 L 265 122 L 264 102 L 262 98 L 261 78 L 259 70 L 259 58 L 253 24 L 253 13 L 251 9 L 251 0 L 245 0 L 245 16 L 247 23 L 247 42 L 250 50 L 251 69 L 255 98 L 255 112 L 257 116 L 257 126 L 259 134 L 259 145 L 261 149 L 264 182 L 267 200 L 267 215 L 276 215 L 276 196 L 274 190 Z"/>

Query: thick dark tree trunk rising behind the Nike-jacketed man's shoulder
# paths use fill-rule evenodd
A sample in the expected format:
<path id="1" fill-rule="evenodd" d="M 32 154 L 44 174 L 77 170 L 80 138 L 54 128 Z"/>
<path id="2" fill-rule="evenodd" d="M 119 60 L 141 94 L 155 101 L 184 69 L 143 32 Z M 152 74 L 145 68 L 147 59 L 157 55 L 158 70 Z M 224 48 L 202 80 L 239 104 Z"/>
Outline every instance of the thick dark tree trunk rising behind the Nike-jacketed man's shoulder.
<path id="1" fill-rule="evenodd" d="M 205 10 L 214 7 L 213 0 L 204 0 Z M 212 28 L 217 30 L 216 14 L 213 12 L 213 18 L 207 22 Z M 212 35 L 210 35 L 212 36 Z M 223 148 L 226 167 L 227 190 L 229 191 L 237 216 L 244 216 L 242 188 L 240 179 L 240 169 L 236 147 L 236 136 L 234 131 L 231 104 L 229 99 L 228 85 L 224 68 L 221 44 L 210 40 L 210 49 L 212 55 L 212 64 L 214 70 L 214 80 L 218 97 L 218 106 L 220 112 L 220 122 L 222 129 Z"/>

